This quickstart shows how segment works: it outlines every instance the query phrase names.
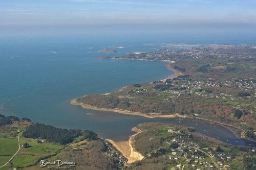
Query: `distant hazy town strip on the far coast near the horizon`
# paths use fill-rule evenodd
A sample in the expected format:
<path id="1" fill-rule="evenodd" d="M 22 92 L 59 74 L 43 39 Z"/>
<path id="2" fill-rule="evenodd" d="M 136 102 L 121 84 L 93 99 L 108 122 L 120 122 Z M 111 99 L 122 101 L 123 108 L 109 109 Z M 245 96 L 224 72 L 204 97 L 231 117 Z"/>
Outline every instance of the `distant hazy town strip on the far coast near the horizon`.
<path id="1" fill-rule="evenodd" d="M 178 58 L 210 58 L 210 57 L 231 57 L 231 58 L 253 58 L 255 48 L 252 45 L 199 45 L 197 47 L 184 48 L 183 50 L 161 49 L 148 53 L 132 53 L 128 58 L 144 60 L 173 60 Z"/>

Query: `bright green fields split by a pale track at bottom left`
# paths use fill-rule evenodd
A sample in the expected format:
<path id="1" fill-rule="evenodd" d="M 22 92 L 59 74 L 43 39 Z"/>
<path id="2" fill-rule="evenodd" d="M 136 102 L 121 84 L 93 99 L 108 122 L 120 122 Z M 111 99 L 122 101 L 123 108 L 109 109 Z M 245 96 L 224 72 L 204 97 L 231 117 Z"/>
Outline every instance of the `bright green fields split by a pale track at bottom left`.
<path id="1" fill-rule="evenodd" d="M 20 126 L 19 129 L 24 129 Z M 17 129 L 11 129 L 10 131 L 0 132 L 0 137 L 9 137 L 11 133 L 17 133 Z M 41 157 L 52 155 L 58 152 L 58 150 L 63 148 L 63 145 L 44 142 L 38 143 L 37 139 L 24 138 L 19 135 L 20 150 L 18 154 L 11 160 L 12 167 L 20 166 L 25 167 L 32 165 L 40 159 Z M 22 144 L 28 143 L 30 147 L 23 148 Z M 0 139 L 0 165 L 5 164 L 18 150 L 18 139 L 17 138 L 7 138 Z M 59 154 L 58 154 L 59 155 Z M 10 169 L 7 165 L 2 169 Z"/>

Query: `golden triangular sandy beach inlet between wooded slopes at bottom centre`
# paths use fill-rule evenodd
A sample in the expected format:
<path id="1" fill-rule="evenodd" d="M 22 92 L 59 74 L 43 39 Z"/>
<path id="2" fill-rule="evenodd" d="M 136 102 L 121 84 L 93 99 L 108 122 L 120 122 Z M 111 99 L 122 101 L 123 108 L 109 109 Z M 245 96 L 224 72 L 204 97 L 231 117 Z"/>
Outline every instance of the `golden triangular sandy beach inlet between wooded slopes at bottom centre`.
<path id="1" fill-rule="evenodd" d="M 122 153 L 122 155 L 127 158 L 127 163 L 133 163 L 136 161 L 140 161 L 144 158 L 143 155 L 141 155 L 139 152 L 135 150 L 134 147 L 134 137 L 141 133 L 137 128 L 132 128 L 132 131 L 136 132 L 134 135 L 129 137 L 128 141 L 120 141 L 120 142 L 115 142 L 111 139 L 106 139 L 108 142 L 110 142 L 118 151 Z"/>

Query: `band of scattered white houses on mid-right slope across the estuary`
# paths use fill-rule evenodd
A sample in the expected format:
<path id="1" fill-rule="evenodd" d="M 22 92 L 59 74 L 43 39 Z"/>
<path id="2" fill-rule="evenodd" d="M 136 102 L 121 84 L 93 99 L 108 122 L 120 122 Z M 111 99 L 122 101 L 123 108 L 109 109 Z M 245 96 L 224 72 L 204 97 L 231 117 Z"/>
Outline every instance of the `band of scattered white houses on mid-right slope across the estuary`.
<path id="1" fill-rule="evenodd" d="M 250 79 L 239 79 L 237 81 L 230 80 L 222 80 L 215 81 L 214 79 L 210 79 L 208 81 L 192 81 L 187 79 L 175 79 L 171 81 L 166 81 L 166 88 L 159 88 L 158 91 L 163 91 L 172 94 L 173 96 L 180 96 L 183 94 L 194 94 L 199 96 L 210 97 L 214 99 L 230 99 L 234 100 L 236 98 L 251 98 L 252 95 L 256 94 L 256 82 L 255 80 Z M 234 91 L 230 91 L 229 93 L 218 92 L 207 90 L 207 88 L 236 88 L 243 91 L 253 91 L 252 95 L 240 96 L 239 93 L 233 93 Z"/>

